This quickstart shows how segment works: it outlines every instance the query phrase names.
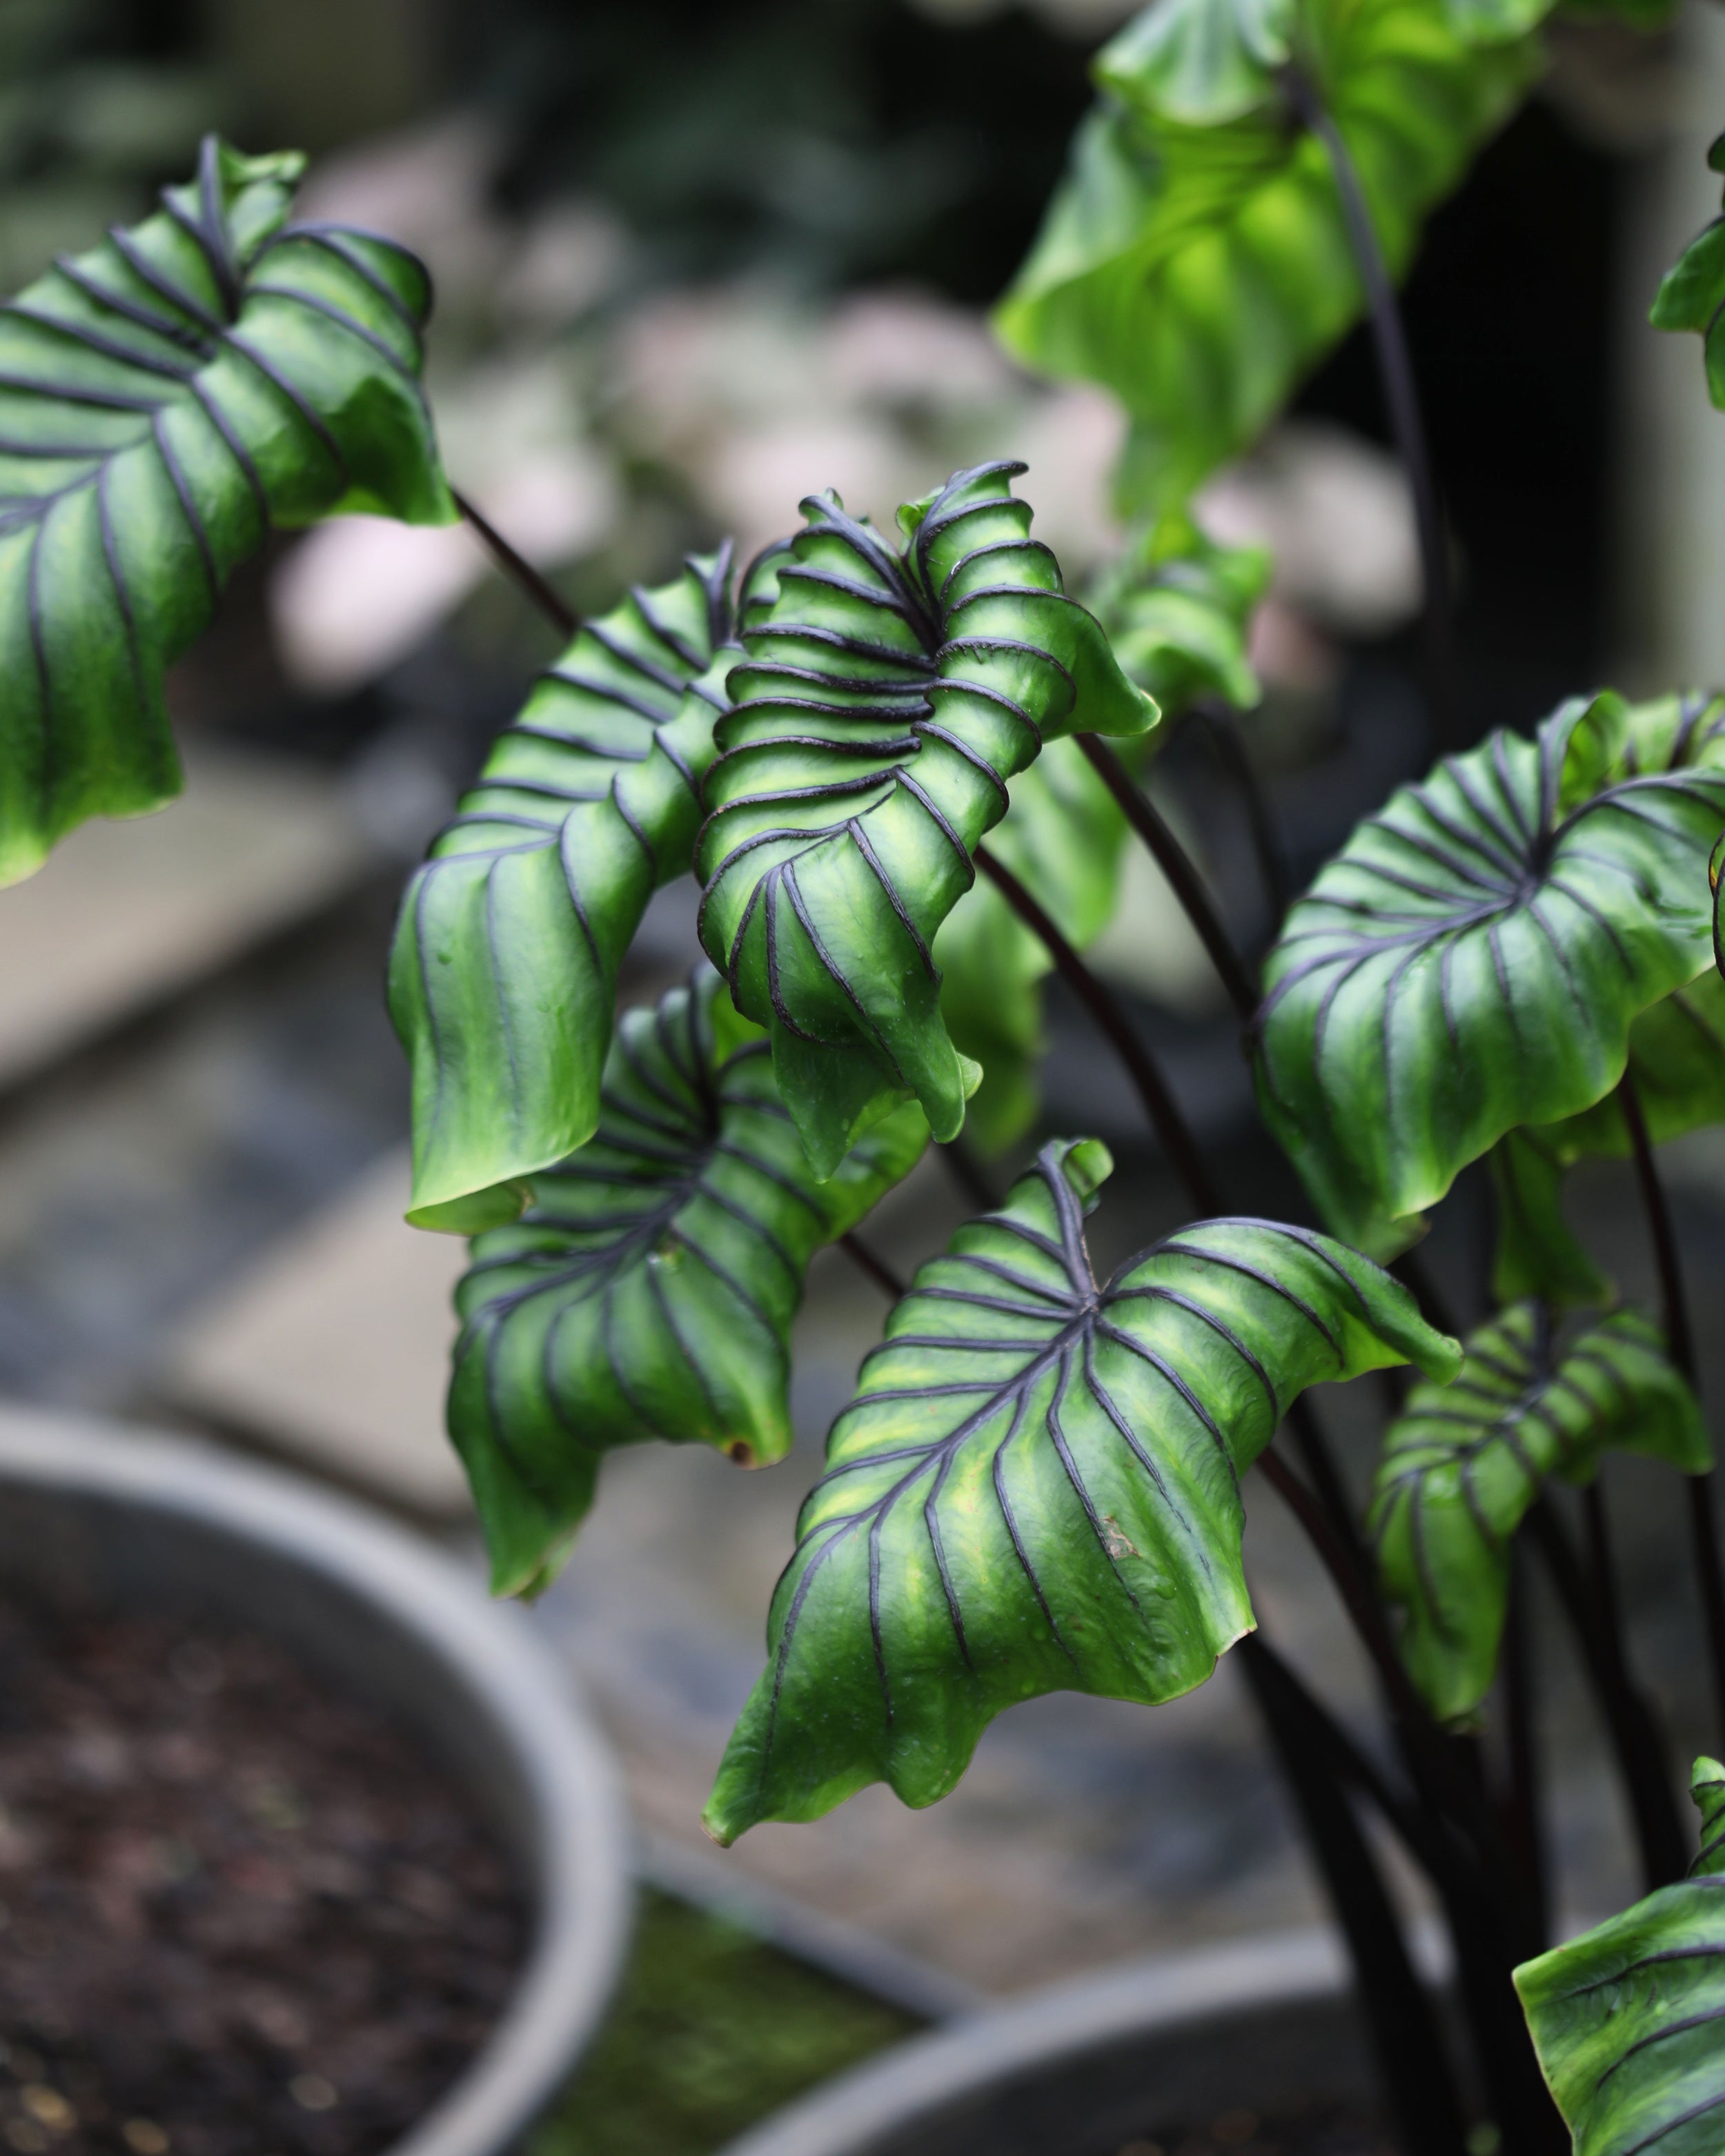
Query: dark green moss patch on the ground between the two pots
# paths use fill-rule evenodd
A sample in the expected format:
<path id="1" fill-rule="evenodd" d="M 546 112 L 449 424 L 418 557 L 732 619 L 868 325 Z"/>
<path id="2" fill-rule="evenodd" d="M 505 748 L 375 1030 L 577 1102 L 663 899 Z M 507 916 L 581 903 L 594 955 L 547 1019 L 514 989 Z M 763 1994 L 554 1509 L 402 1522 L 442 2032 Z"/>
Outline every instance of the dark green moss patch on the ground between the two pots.
<path id="1" fill-rule="evenodd" d="M 643 1893 L 610 2018 L 526 2156 L 712 2156 L 919 2027 L 722 1917 Z"/>

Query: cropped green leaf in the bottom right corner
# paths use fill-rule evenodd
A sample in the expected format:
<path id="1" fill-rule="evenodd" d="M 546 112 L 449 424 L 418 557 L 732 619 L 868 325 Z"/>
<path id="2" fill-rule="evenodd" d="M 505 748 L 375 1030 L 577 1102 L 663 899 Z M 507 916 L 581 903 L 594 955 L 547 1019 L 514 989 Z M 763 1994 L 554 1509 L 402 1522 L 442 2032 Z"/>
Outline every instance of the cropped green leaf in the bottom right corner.
<path id="1" fill-rule="evenodd" d="M 1576 2156 L 1716 2156 L 1725 2113 L 1725 1768 L 1697 1759 L 1688 1878 L 1522 1962 L 1516 1990 Z"/>

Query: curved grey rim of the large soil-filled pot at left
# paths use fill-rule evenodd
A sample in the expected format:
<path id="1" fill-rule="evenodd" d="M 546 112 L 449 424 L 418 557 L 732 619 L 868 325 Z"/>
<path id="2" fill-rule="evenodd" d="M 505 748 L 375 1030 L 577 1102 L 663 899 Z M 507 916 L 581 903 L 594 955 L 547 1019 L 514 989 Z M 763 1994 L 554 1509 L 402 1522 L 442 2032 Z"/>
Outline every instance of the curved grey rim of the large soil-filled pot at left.
<path id="1" fill-rule="evenodd" d="M 388 2156 L 507 2147 L 567 2078 L 630 1934 L 632 1835 L 606 1740 L 518 1608 L 423 1537 L 287 1468 L 203 1438 L 84 1414 L 0 1410 L 0 1481 L 88 1492 L 267 1544 L 414 1634 L 477 1695 L 533 1805 L 533 1945 L 492 2037 Z"/>

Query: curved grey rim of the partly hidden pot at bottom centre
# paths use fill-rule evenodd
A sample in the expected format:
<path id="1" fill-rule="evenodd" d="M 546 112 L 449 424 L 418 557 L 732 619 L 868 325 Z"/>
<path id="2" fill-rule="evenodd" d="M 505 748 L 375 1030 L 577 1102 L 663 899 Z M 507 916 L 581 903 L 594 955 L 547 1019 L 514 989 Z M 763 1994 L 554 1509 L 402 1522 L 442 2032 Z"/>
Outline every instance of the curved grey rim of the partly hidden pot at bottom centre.
<path id="1" fill-rule="evenodd" d="M 990 2083 L 1026 2081 L 1136 2033 L 1343 1999 L 1348 1988 L 1348 1955 L 1322 1925 L 1145 1955 L 895 2044 L 776 2111 L 720 2156 L 869 2156 L 897 2128 Z"/>

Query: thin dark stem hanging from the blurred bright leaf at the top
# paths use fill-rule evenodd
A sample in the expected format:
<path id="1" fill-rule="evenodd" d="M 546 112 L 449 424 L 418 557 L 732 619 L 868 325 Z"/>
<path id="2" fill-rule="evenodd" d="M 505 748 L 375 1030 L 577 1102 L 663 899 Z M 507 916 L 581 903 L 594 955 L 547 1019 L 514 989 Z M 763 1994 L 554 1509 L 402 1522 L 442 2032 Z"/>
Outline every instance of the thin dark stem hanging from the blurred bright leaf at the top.
<path id="1" fill-rule="evenodd" d="M 1419 558 L 1425 573 L 1425 664 L 1432 677 L 1432 705 L 1436 733 L 1445 742 L 1458 740 L 1455 699 L 1455 645 L 1453 645 L 1453 602 L 1449 593 L 1449 554 L 1445 550 L 1443 517 L 1438 513 L 1438 489 L 1432 479 L 1432 457 L 1425 446 L 1425 420 L 1419 410 L 1419 386 L 1414 362 L 1408 351 L 1408 332 L 1402 326 L 1402 308 L 1395 302 L 1395 285 L 1378 246 L 1371 224 L 1371 207 L 1365 201 L 1361 177 L 1348 144 L 1330 119 L 1317 86 L 1298 67 L 1283 69 L 1283 84 L 1289 103 L 1300 121 L 1324 144 L 1335 172 L 1335 188 L 1341 196 L 1341 216 L 1348 224 L 1348 241 L 1365 287 L 1365 304 L 1371 315 L 1371 343 L 1378 351 L 1378 379 L 1384 392 L 1395 448 L 1402 470 L 1408 474 L 1408 492 L 1414 498 L 1414 526 L 1419 530 Z"/>

